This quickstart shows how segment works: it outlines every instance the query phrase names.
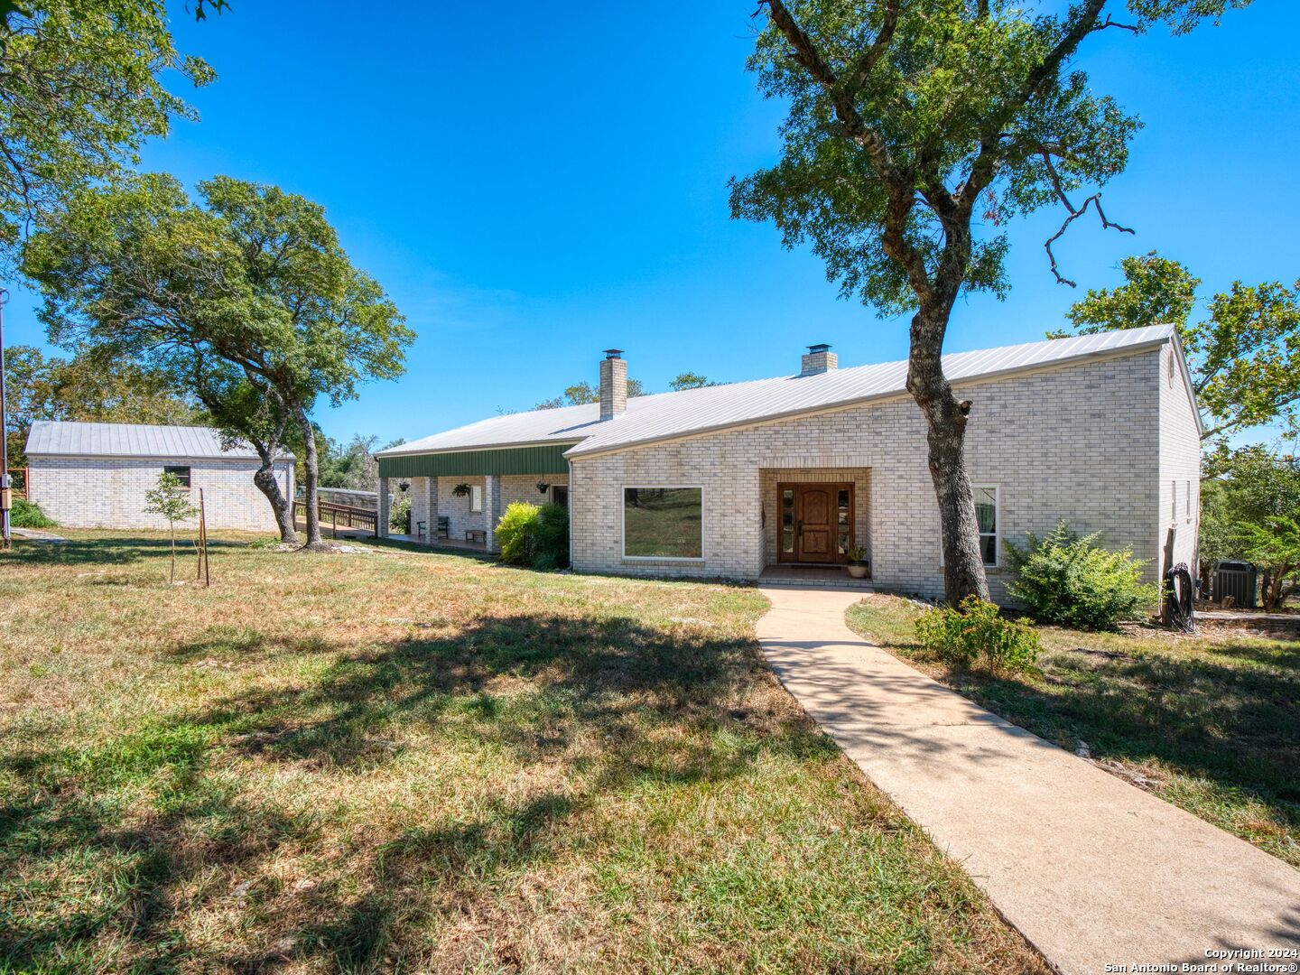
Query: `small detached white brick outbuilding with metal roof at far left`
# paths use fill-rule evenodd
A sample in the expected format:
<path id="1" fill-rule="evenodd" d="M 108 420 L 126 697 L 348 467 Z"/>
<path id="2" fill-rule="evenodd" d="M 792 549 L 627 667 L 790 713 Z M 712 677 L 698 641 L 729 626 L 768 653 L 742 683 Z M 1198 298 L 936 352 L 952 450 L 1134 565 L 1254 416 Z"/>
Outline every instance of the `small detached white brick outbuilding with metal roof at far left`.
<path id="1" fill-rule="evenodd" d="M 208 528 L 274 532 L 265 495 L 252 482 L 260 462 L 247 443 L 221 446 L 207 426 L 38 420 L 27 436 L 27 497 L 68 528 L 166 528 L 144 514 L 144 493 L 170 471 L 199 503 Z M 276 460 L 285 497 L 294 497 L 294 456 Z"/>

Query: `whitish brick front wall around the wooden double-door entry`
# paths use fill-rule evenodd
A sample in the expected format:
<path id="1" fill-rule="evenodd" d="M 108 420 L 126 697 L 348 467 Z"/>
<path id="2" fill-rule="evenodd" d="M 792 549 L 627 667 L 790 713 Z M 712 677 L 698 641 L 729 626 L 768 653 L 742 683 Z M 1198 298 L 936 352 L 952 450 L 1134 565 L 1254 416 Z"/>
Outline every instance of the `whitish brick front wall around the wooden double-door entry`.
<path id="1" fill-rule="evenodd" d="M 1001 381 L 967 384 L 974 400 L 966 458 L 976 484 L 997 485 L 998 532 L 1023 542 L 1066 519 L 1105 530 L 1112 546 L 1152 558 L 1162 523 L 1161 350 L 1093 360 Z M 616 422 L 616 421 L 615 421 Z M 1167 445 L 1180 464 L 1195 446 Z M 1188 455 L 1184 459 L 1184 455 Z M 762 528 L 767 471 L 870 468 L 866 529 L 872 577 L 901 592 L 942 592 L 939 510 L 926 464 L 926 426 L 910 398 L 575 458 L 569 499 L 578 571 L 754 578 L 768 560 Z M 705 552 L 696 562 L 621 555 L 624 485 L 703 485 Z M 772 512 L 770 512 L 772 514 Z M 774 519 L 768 517 L 771 524 Z M 1149 567 L 1154 578 L 1158 566 Z M 991 569 L 1005 598 L 1005 569 Z"/>

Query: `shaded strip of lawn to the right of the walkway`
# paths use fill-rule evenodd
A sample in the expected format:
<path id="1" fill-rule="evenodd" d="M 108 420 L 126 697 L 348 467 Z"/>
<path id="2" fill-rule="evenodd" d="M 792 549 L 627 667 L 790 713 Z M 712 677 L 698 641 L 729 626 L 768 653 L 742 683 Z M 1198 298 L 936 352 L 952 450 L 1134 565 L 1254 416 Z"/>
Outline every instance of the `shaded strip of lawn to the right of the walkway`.
<path id="1" fill-rule="evenodd" d="M 849 625 L 1010 722 L 1300 867 L 1300 640 L 1226 628 L 1043 627 L 1026 676 L 953 672 L 915 642 L 914 602 L 871 595 Z"/>

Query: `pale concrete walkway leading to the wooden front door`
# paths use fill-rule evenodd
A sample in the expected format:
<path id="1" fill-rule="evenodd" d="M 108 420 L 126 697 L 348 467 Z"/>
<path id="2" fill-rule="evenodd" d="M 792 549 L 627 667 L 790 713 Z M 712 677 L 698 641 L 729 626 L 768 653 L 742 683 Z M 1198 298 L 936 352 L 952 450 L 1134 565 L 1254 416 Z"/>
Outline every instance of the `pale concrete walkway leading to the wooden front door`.
<path id="1" fill-rule="evenodd" d="M 1300 870 L 867 644 L 844 621 L 859 594 L 762 592 L 781 682 L 1060 971 L 1300 946 Z"/>

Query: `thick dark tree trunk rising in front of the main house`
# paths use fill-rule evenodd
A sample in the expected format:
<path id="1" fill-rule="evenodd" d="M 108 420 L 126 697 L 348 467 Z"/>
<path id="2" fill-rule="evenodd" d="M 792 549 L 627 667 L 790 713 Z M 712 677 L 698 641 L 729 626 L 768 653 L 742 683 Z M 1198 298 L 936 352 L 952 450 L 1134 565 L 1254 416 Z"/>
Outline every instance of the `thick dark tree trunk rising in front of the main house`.
<path id="1" fill-rule="evenodd" d="M 979 547 L 975 495 L 966 474 L 966 415 L 971 404 L 957 402 L 941 359 L 950 311 L 950 300 L 923 302 L 913 317 L 907 391 L 926 417 L 930 478 L 939 500 L 944 599 L 956 606 L 967 595 L 988 599 L 989 592 Z"/>

